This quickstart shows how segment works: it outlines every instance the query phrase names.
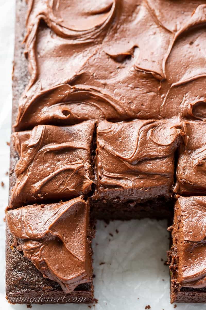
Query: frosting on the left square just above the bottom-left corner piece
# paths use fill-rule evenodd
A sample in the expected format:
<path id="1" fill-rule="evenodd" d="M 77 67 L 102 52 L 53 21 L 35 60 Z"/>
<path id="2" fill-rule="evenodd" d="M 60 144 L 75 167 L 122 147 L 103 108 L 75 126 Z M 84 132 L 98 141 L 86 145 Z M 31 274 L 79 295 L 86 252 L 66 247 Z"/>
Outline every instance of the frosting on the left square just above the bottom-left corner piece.
<path id="1" fill-rule="evenodd" d="M 93 121 L 65 127 L 39 125 L 32 131 L 13 133 L 20 158 L 9 207 L 88 193 L 94 125 Z"/>

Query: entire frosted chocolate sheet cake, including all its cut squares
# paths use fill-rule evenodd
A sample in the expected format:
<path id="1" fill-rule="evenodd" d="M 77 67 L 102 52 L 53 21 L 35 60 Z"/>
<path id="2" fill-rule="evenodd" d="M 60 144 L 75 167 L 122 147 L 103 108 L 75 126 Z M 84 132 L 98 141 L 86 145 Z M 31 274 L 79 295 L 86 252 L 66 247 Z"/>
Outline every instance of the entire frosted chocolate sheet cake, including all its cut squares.
<path id="1" fill-rule="evenodd" d="M 95 219 L 173 211 L 171 302 L 206 302 L 205 21 L 201 0 L 16 1 L 9 302 L 92 302 Z"/>

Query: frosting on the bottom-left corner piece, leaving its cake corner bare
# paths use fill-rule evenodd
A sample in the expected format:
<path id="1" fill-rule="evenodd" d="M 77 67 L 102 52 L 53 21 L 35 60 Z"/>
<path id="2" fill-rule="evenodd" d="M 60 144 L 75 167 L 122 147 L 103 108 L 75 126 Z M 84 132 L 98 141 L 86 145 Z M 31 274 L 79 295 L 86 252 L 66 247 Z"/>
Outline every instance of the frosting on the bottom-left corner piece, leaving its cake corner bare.
<path id="1" fill-rule="evenodd" d="M 43 277 L 58 282 L 65 293 L 90 281 L 89 206 L 84 200 L 10 210 L 6 221 L 14 235 L 14 246 Z"/>

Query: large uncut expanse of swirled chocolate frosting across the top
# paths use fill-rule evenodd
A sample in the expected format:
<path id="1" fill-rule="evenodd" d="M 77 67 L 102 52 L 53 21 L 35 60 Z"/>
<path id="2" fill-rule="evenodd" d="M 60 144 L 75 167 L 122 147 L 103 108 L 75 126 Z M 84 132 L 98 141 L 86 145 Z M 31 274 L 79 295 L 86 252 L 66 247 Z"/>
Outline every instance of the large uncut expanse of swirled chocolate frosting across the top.
<path id="1" fill-rule="evenodd" d="M 204 1 L 27 2 L 31 79 L 16 130 L 87 119 L 205 120 Z"/>

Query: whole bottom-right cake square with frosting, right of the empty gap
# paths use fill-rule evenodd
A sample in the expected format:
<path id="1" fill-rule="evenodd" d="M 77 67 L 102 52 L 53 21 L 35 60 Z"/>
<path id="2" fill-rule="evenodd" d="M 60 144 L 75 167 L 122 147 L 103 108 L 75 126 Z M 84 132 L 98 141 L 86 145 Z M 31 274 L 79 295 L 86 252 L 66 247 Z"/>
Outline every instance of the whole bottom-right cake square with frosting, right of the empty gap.
<path id="1" fill-rule="evenodd" d="M 179 196 L 174 208 L 171 302 L 206 302 L 206 197 Z"/>

